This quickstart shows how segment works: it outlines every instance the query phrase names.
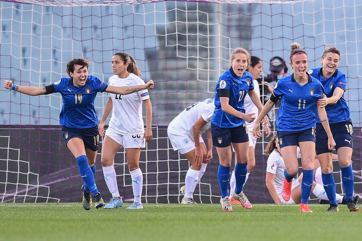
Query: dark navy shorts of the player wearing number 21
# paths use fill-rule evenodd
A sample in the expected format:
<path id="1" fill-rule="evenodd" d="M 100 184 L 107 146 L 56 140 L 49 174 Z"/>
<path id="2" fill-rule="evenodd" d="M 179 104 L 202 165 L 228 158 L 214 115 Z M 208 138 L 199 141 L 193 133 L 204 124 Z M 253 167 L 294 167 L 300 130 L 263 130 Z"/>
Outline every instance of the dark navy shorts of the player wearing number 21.
<path id="1" fill-rule="evenodd" d="M 216 147 L 228 147 L 232 143 L 244 143 L 249 141 L 248 129 L 244 124 L 233 128 L 221 128 L 211 123 L 212 145 Z"/>

